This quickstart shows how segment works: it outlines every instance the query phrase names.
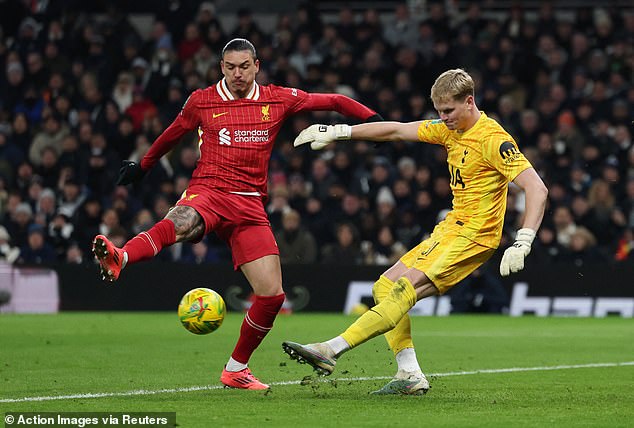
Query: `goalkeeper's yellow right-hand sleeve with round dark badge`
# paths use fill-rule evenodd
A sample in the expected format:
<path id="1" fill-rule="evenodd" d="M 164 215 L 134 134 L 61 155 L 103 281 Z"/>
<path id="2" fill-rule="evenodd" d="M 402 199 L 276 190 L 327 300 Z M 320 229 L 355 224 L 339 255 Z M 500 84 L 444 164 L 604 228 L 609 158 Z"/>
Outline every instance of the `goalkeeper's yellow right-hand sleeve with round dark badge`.
<path id="1" fill-rule="evenodd" d="M 520 152 L 517 143 L 506 133 L 494 133 L 482 146 L 482 156 L 493 168 L 513 181 L 531 163 Z"/>

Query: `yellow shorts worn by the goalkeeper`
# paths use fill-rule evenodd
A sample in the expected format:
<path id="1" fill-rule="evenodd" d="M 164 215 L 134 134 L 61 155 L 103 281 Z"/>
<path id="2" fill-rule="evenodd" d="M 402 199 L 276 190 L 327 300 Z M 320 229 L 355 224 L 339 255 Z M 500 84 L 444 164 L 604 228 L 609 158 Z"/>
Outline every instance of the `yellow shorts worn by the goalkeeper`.
<path id="1" fill-rule="evenodd" d="M 424 272 L 440 294 L 462 281 L 495 253 L 494 248 L 459 235 L 461 226 L 455 221 L 452 223 L 440 222 L 429 238 L 400 259 L 408 268 Z"/>

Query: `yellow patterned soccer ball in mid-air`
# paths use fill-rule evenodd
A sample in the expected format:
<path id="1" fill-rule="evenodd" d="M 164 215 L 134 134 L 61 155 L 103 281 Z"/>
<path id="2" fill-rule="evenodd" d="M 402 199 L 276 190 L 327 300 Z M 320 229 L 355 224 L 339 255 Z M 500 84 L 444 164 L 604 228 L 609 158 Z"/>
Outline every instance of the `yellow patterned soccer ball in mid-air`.
<path id="1" fill-rule="evenodd" d="M 194 288 L 181 299 L 178 318 L 190 332 L 209 334 L 218 330 L 225 319 L 225 301 L 214 290 Z"/>

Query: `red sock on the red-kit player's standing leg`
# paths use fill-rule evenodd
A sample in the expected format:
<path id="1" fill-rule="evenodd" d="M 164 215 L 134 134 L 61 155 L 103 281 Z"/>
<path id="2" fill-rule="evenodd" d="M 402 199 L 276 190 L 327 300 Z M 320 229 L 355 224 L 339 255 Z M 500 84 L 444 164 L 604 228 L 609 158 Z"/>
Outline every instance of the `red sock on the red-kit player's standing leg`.
<path id="1" fill-rule="evenodd" d="M 273 321 L 284 303 L 285 294 L 277 296 L 255 296 L 255 301 L 242 321 L 240 338 L 231 358 L 246 364 L 253 351 L 273 327 Z"/>

